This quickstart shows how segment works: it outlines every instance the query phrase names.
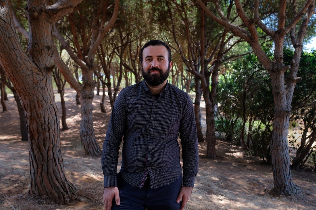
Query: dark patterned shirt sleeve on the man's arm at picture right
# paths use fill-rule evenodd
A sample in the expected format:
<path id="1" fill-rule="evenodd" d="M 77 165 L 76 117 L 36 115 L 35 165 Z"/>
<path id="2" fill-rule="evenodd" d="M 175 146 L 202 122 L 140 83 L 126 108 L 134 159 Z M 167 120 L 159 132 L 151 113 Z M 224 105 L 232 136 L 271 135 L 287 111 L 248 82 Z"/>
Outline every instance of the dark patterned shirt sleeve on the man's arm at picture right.
<path id="1" fill-rule="evenodd" d="M 187 96 L 182 113 L 179 132 L 183 160 L 183 186 L 194 187 L 198 171 L 198 144 L 194 108 L 189 96 Z"/>

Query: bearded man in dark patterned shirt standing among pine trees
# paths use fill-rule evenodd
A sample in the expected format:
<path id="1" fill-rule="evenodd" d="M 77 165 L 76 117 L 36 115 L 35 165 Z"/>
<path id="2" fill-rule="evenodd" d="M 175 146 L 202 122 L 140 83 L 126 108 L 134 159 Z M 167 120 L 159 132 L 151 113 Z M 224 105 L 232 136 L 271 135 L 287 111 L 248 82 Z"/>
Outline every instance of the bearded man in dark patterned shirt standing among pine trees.
<path id="1" fill-rule="evenodd" d="M 172 67 L 167 44 L 149 41 L 140 52 L 140 62 L 144 80 L 121 90 L 106 131 L 101 160 L 104 207 L 182 210 L 198 170 L 192 101 L 167 82 Z M 116 174 L 122 137 L 122 166 Z"/>

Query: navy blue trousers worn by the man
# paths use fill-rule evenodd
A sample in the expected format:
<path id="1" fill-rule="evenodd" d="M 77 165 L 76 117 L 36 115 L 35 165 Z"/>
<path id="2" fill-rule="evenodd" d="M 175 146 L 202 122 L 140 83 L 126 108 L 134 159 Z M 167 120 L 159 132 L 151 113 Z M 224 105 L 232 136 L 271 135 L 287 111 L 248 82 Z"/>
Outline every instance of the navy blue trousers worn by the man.
<path id="1" fill-rule="evenodd" d="M 120 205 L 112 202 L 111 210 L 179 210 L 181 202 L 177 203 L 177 197 L 182 186 L 182 175 L 173 184 L 150 189 L 150 178 L 145 180 L 143 189 L 134 187 L 117 174 Z"/>

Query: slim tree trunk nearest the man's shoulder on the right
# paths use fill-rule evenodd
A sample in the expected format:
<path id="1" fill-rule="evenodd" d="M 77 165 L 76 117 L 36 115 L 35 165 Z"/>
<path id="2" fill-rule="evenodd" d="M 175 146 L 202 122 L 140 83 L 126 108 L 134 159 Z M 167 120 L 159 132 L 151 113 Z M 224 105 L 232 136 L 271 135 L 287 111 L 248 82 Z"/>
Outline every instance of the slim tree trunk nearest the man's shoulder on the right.
<path id="1" fill-rule="evenodd" d="M 201 88 L 200 88 L 200 80 L 195 78 L 195 102 L 194 102 L 194 116 L 195 116 L 195 124 L 197 126 L 197 141 L 204 142 L 204 136 L 202 132 L 202 123 L 201 123 Z"/>

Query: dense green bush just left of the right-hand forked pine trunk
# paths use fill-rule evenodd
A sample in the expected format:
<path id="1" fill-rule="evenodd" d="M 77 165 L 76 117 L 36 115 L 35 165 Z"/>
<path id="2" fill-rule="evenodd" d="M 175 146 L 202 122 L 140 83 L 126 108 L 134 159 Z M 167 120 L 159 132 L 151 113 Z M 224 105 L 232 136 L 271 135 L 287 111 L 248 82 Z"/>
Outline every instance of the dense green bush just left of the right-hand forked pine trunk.
<path id="1" fill-rule="evenodd" d="M 254 55 L 234 62 L 233 68 L 219 79 L 217 102 L 220 104 L 216 130 L 227 140 L 240 143 L 244 115 L 244 136 L 252 155 L 270 162 L 269 144 L 273 119 L 270 76 Z"/>

